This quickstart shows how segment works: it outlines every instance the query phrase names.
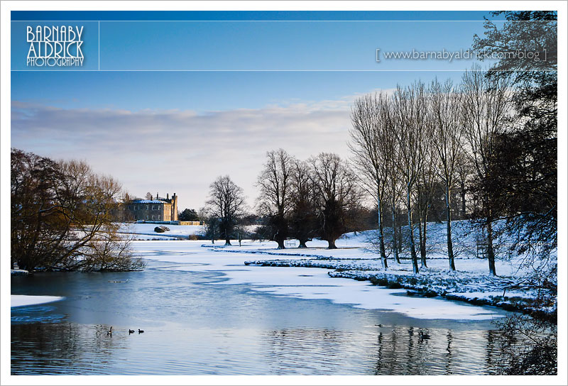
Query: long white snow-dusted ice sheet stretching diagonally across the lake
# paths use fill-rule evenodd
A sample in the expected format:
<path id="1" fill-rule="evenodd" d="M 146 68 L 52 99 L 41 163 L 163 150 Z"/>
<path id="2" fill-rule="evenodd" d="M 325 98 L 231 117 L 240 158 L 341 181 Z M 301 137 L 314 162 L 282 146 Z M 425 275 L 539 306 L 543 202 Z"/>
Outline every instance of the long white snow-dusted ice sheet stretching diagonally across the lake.
<path id="1" fill-rule="evenodd" d="M 249 283 L 256 291 L 302 299 L 329 299 L 364 309 L 383 309 L 421 319 L 484 320 L 500 317 L 497 309 L 459 304 L 442 299 L 405 296 L 404 289 L 386 289 L 351 279 L 332 278 L 322 268 L 280 268 L 244 265 L 248 253 L 229 253 L 202 247 L 203 242 L 136 242 L 144 258 L 181 263 L 171 271 L 222 272 L 225 281 L 214 285 Z M 257 244 L 258 245 L 258 244 Z"/>

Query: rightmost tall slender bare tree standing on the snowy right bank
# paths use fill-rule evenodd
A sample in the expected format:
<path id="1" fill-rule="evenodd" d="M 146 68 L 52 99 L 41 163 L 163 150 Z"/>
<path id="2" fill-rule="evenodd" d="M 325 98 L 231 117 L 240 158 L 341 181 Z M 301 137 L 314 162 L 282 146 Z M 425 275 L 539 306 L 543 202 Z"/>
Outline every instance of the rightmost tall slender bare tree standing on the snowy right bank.
<path id="1" fill-rule="evenodd" d="M 506 77 L 486 77 L 486 72 L 474 67 L 462 77 L 465 136 L 474 165 L 477 190 L 481 200 L 483 224 L 486 228 L 489 272 L 496 275 L 493 250 L 493 221 L 498 219 L 491 191 L 491 160 L 495 157 L 498 135 L 506 128 L 510 95 Z"/>

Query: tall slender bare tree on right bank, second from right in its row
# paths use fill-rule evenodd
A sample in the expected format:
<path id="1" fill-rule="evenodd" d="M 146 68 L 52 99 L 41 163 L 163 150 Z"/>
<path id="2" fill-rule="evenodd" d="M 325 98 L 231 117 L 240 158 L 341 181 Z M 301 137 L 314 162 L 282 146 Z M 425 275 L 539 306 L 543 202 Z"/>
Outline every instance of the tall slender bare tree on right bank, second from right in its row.
<path id="1" fill-rule="evenodd" d="M 444 84 L 435 79 L 430 85 L 432 109 L 433 145 L 439 160 L 438 175 L 444 184 L 446 204 L 446 233 L 449 269 L 456 270 L 454 246 L 452 243 L 452 189 L 458 172 L 462 153 L 461 139 L 464 134 L 461 119 L 461 94 L 455 90 L 451 81 Z M 465 184 L 465 183 L 464 183 Z M 462 187 L 465 205 L 465 189 Z M 465 209 L 463 209 L 465 211 Z"/>

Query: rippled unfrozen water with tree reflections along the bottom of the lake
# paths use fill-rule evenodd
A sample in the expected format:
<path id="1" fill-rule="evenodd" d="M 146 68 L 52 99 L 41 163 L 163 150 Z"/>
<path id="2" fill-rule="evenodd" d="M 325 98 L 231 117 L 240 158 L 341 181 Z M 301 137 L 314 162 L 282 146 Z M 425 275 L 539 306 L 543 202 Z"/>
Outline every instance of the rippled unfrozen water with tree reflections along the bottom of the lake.
<path id="1" fill-rule="evenodd" d="M 155 329 L 129 334 L 108 326 L 12 326 L 12 374 L 449 375 L 491 374 L 495 331 L 413 327 L 374 331 Z"/>

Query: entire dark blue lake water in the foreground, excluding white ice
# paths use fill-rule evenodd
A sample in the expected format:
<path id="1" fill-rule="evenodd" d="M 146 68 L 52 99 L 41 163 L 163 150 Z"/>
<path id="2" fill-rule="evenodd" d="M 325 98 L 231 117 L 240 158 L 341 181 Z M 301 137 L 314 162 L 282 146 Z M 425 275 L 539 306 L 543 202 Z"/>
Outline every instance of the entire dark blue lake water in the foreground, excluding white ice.
<path id="1" fill-rule="evenodd" d="M 415 319 L 326 299 L 276 296 L 249 284 L 222 285 L 226 278 L 220 272 L 159 269 L 176 265 L 150 261 L 144 272 L 13 277 L 12 294 L 65 299 L 11 310 L 11 373 L 483 375 L 496 370 L 499 334 L 491 321 Z M 108 336 L 110 326 L 114 333 Z M 144 332 L 129 334 L 129 329 Z M 430 338 L 420 338 L 419 331 Z"/>

